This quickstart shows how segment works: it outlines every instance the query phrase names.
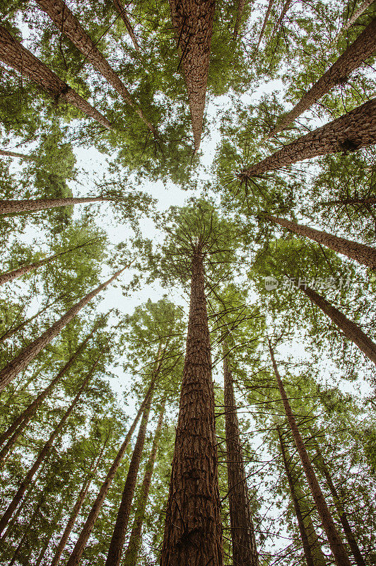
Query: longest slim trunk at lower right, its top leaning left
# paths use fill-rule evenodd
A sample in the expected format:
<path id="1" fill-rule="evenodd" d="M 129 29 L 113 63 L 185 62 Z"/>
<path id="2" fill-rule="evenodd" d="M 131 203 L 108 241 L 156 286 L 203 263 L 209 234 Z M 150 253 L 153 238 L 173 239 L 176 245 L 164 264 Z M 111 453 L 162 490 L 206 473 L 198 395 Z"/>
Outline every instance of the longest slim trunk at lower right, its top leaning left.
<path id="1" fill-rule="evenodd" d="M 269 350 L 271 355 L 271 362 L 273 363 L 274 374 L 276 375 L 276 381 L 278 383 L 279 393 L 281 394 L 283 407 L 288 419 L 288 424 L 290 425 L 291 432 L 293 433 L 293 439 L 298 449 L 300 461 L 302 462 L 302 467 L 305 471 L 308 485 L 310 485 L 310 490 L 313 500 L 315 501 L 317 512 L 320 516 L 320 519 L 322 520 L 322 527 L 327 534 L 331 553 L 333 554 L 333 558 L 337 566 L 351 566 L 351 562 L 346 553 L 346 548 L 341 541 L 341 537 L 339 536 L 339 532 L 336 529 L 336 525 L 334 524 L 333 518 L 329 511 L 329 507 L 327 506 L 327 502 L 325 501 L 321 487 L 319 486 L 319 483 L 317 481 L 315 471 L 312 468 L 310 456 L 308 456 L 307 450 L 305 449 L 305 444 L 299 432 L 298 424 L 296 424 L 296 420 L 293 415 L 293 411 L 291 410 L 281 376 L 278 372 L 278 367 L 276 360 L 274 359 L 274 352 L 271 347 L 270 340 Z"/>

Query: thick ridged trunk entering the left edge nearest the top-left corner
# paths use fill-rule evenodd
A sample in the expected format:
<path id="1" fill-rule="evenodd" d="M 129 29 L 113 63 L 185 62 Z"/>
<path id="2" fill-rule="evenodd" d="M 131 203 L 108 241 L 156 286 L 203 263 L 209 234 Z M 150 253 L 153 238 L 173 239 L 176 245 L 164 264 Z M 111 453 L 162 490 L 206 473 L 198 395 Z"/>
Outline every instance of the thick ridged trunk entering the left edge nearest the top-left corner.
<path id="1" fill-rule="evenodd" d="M 14 37 L 0 25 L 0 60 L 16 69 L 22 76 L 28 76 L 33 82 L 47 91 L 55 100 L 60 98 L 76 106 L 88 117 L 93 118 L 106 129 L 112 125 L 98 110 L 95 110 L 84 98 L 54 74 L 42 61 L 34 57 Z"/>

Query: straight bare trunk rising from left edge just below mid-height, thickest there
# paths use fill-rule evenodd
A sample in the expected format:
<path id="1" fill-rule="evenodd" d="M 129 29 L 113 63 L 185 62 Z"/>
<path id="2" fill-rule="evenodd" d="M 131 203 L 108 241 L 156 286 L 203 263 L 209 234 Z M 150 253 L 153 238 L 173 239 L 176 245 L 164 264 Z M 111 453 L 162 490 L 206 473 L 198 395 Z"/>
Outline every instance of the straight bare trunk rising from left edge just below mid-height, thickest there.
<path id="1" fill-rule="evenodd" d="M 20 354 L 13 358 L 11 362 L 6 364 L 4 369 L 0 371 L 0 391 L 3 391 L 3 389 L 9 383 L 11 383 L 11 381 L 19 374 L 20 371 L 23 371 L 23 369 L 25 369 L 28 364 L 30 364 L 30 362 L 33 362 L 33 359 L 35 359 L 37 354 L 39 354 L 39 352 L 60 333 L 64 326 L 66 326 L 72 320 L 72 318 L 76 316 L 81 308 L 86 306 L 91 301 L 91 299 L 98 295 L 100 291 L 105 289 L 105 287 L 107 287 L 107 285 L 109 285 L 114 279 L 116 279 L 116 277 L 118 277 L 120 273 L 122 273 L 125 269 L 126 267 L 124 267 L 122 270 L 117 271 L 105 283 L 102 283 L 96 289 L 90 291 L 90 293 L 84 296 L 81 301 L 78 301 L 78 303 L 69 308 L 69 311 L 67 311 L 59 320 L 54 322 L 52 326 L 50 326 L 42 335 L 40 335 L 40 337 L 38 337 L 36 340 L 33 340 L 33 342 L 31 342 L 20 352 Z"/>

